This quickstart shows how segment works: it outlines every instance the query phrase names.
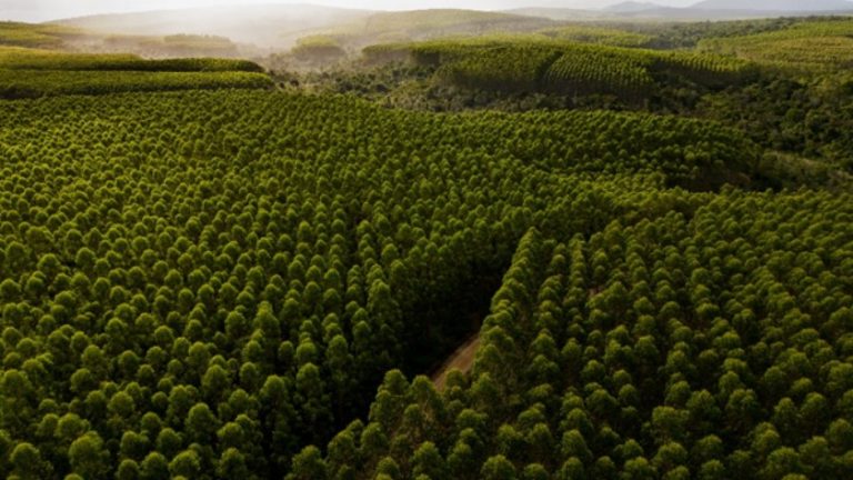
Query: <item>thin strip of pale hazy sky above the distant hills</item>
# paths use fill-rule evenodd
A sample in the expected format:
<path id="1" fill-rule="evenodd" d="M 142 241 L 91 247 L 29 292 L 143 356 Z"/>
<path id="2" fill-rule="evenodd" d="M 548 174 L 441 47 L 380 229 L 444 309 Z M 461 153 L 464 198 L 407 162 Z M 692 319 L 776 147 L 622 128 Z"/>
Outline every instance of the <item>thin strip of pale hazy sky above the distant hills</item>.
<path id="1" fill-rule="evenodd" d="M 500 10 L 516 7 L 599 8 L 622 0 L 0 0 L 0 20 L 42 21 L 91 13 L 144 11 L 213 4 L 315 3 L 372 10 L 470 8 Z M 659 4 L 688 6 L 699 0 L 655 0 Z"/>

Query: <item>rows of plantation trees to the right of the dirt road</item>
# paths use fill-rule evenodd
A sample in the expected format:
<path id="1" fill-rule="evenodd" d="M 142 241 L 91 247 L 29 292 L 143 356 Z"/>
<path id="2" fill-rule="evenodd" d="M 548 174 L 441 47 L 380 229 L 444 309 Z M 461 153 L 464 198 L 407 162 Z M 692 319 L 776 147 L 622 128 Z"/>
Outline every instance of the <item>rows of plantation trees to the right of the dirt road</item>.
<path id="1" fill-rule="evenodd" d="M 831 259 L 853 244 L 850 196 L 729 188 L 705 200 L 589 238 L 529 231 L 470 383 L 431 407 L 456 412 L 422 430 L 433 463 L 446 456 L 449 478 L 515 478 L 519 466 L 522 478 L 847 478 L 849 423 L 832 404 L 849 390 L 826 380 L 849 366 L 850 262 Z M 559 374 L 543 377 L 545 362 Z M 402 426 L 391 446 L 413 434 L 395 416 L 382 419 Z M 472 416 L 488 420 L 472 429 Z M 418 457 L 364 453 L 357 470 Z"/>

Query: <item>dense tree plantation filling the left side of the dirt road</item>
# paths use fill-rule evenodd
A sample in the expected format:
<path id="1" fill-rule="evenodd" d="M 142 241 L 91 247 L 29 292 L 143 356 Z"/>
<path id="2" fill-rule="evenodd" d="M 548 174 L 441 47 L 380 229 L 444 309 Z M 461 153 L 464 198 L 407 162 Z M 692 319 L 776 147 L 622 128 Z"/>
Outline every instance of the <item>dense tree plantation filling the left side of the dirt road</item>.
<path id="1" fill-rule="evenodd" d="M 0 429 L 57 476 L 288 472 L 409 363 L 424 340 L 407 332 L 450 321 L 433 312 L 475 283 L 469 266 L 506 262 L 531 222 L 593 232 L 668 181 L 711 181 L 712 159 L 742 173 L 753 161 L 719 124 L 641 114 L 438 116 L 241 91 L 2 107 L 14 394 Z M 554 216 L 566 211 L 579 213 Z M 423 419 L 444 413 L 414 384 L 394 406 L 407 387 L 389 383 L 377 414 L 407 411 L 407 428 L 432 434 Z M 32 423 L 51 404 L 48 441 Z M 381 449 L 389 434 L 352 437 Z M 530 438 L 541 461 L 549 431 Z M 399 448 L 420 452 L 424 474 L 444 471 L 417 437 Z M 441 457 L 479 471 L 463 450 Z M 313 471 L 315 457 L 298 463 Z"/>

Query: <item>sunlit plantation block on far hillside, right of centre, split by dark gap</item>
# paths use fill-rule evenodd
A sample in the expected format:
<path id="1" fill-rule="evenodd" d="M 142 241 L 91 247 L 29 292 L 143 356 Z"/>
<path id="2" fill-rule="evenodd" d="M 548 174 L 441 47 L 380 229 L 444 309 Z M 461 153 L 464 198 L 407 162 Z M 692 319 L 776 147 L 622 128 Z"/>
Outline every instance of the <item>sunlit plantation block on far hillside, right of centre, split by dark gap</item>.
<path id="1" fill-rule="evenodd" d="M 638 101 L 678 77 L 720 88 L 752 71 L 743 60 L 715 54 L 660 52 L 586 44 L 536 36 L 483 37 L 364 50 L 370 63 L 408 59 L 438 67 L 436 77 L 454 87 L 571 96 L 612 94 Z"/>

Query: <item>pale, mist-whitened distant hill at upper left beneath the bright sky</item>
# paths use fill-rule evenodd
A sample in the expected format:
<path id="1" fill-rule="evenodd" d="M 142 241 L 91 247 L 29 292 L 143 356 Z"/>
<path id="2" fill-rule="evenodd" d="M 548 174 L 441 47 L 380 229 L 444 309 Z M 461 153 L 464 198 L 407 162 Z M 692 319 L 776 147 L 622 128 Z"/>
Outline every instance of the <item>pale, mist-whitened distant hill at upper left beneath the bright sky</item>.
<path id="1" fill-rule="evenodd" d="M 308 31 L 352 22 L 371 14 L 373 12 L 368 10 L 311 4 L 255 4 L 99 14 L 52 23 L 123 36 L 220 36 L 262 47 L 288 47 Z"/>

